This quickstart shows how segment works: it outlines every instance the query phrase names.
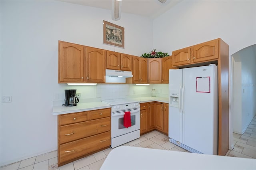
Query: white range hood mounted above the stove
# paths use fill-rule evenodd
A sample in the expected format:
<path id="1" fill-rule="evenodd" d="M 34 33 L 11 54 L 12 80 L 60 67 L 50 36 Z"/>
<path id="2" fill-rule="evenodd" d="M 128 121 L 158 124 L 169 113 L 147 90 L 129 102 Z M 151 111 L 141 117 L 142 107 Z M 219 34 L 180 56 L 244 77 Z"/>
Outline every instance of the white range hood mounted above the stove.
<path id="1" fill-rule="evenodd" d="M 133 77 L 132 71 L 106 69 L 106 83 L 126 83 L 128 77 Z"/>

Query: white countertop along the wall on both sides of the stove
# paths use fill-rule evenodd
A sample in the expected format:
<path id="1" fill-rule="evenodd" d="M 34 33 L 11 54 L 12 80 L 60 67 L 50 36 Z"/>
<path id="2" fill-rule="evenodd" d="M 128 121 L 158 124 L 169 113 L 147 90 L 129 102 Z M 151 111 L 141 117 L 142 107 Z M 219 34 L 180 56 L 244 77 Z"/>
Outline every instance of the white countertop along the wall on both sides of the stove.
<path id="1" fill-rule="evenodd" d="M 147 102 L 153 102 L 158 101 L 162 103 L 168 103 L 168 98 L 166 97 L 136 97 L 136 98 L 130 98 L 136 101 L 139 101 L 140 103 L 147 103 Z M 97 109 L 105 109 L 105 108 L 111 108 L 111 105 L 108 105 L 104 102 L 97 101 L 97 102 L 88 102 L 88 103 L 77 103 L 77 106 L 72 107 L 66 107 L 66 106 L 53 106 L 52 108 L 52 115 L 62 115 L 67 113 L 76 113 L 76 112 L 82 112 L 82 111 L 91 111 L 91 110 L 97 110 Z"/>

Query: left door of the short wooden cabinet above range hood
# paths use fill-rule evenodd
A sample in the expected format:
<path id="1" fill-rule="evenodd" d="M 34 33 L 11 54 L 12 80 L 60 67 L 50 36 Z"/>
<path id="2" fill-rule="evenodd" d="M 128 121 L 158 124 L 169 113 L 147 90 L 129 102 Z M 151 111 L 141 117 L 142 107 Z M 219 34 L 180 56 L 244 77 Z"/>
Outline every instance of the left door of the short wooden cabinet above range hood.
<path id="1" fill-rule="evenodd" d="M 120 53 L 113 51 L 106 52 L 106 69 L 120 69 Z"/>

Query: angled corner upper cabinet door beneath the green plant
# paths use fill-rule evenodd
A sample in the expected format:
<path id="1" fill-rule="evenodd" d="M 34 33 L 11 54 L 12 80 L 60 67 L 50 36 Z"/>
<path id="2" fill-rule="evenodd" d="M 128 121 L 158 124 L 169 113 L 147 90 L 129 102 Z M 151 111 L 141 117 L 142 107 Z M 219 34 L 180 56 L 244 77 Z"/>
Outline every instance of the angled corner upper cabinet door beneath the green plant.
<path id="1" fill-rule="evenodd" d="M 161 59 L 148 59 L 148 83 L 161 83 Z"/>

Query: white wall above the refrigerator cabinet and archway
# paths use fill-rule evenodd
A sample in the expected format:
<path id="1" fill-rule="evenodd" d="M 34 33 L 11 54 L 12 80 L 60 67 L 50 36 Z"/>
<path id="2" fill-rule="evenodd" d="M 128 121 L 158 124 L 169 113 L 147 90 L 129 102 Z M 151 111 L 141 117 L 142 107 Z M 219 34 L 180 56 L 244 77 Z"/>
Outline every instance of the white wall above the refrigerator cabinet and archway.
<path id="1" fill-rule="evenodd" d="M 177 49 L 221 38 L 229 45 L 231 55 L 256 43 L 255 30 L 254 0 L 184 0 L 153 21 L 153 47 L 156 51 L 171 53 Z M 232 107 L 232 103 L 230 105 Z M 229 148 L 232 149 L 231 112 L 229 121 Z"/>

